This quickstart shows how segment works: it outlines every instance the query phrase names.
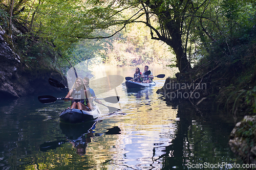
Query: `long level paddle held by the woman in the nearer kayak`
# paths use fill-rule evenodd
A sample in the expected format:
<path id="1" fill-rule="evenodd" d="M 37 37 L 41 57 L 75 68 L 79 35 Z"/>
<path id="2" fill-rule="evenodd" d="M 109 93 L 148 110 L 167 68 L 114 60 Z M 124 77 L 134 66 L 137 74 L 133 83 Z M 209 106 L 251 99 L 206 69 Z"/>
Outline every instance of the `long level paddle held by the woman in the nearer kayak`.
<path id="1" fill-rule="evenodd" d="M 119 96 L 110 96 L 107 98 L 95 98 L 95 100 L 104 100 L 109 103 L 117 103 L 119 101 L 120 97 Z M 51 95 L 41 95 L 38 96 L 38 101 L 41 103 L 53 103 L 56 100 L 70 100 L 69 98 L 55 98 L 54 96 Z M 85 100 L 85 99 L 76 99 L 74 100 Z"/>

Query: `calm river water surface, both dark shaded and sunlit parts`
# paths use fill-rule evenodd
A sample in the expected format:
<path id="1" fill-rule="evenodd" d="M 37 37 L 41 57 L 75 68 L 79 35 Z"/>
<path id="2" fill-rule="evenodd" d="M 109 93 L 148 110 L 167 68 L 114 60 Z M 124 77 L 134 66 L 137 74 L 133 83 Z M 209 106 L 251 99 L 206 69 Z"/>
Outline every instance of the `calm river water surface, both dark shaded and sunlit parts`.
<path id="1" fill-rule="evenodd" d="M 173 76 L 161 67 L 150 68 L 154 75 Z M 105 70 L 131 77 L 135 68 Z M 59 122 L 69 102 L 41 104 L 37 96 L 2 100 L 0 169 L 230 169 L 238 163 L 228 145 L 233 118 L 212 106 L 198 111 L 189 102 L 164 101 L 156 93 L 164 80 L 156 78 L 155 87 L 142 90 L 127 91 L 121 84 L 102 94 L 94 89 L 97 97 L 118 94 L 119 103 L 103 103 L 121 110 L 109 113 L 100 106 L 96 122 L 75 126 Z M 82 154 L 74 147 L 77 139 L 84 143 Z M 222 163 L 226 166 L 213 167 Z"/>

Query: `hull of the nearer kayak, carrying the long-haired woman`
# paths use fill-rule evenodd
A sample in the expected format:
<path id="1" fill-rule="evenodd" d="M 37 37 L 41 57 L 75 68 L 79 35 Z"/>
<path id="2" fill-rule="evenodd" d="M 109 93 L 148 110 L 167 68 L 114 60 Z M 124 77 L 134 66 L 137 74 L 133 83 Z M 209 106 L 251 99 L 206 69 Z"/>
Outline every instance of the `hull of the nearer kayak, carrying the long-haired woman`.
<path id="1" fill-rule="evenodd" d="M 65 109 L 59 115 L 60 121 L 64 123 L 82 123 L 89 120 L 94 120 L 99 117 L 100 110 L 98 106 L 93 106 L 94 109 L 91 111 L 79 110 L 79 109 Z"/>

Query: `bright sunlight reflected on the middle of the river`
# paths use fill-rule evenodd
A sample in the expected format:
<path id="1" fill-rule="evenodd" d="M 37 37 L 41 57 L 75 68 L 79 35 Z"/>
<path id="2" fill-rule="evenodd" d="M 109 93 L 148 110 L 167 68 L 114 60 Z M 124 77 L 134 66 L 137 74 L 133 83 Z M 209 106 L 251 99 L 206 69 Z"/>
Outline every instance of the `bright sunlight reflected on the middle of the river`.
<path id="1" fill-rule="evenodd" d="M 120 75 L 133 75 L 131 69 L 124 68 L 122 70 L 111 69 L 106 72 L 110 75 L 117 72 Z M 118 126 L 121 129 L 121 134 L 117 136 L 118 139 L 113 141 L 115 147 L 109 151 L 115 155 L 110 161 L 115 168 L 159 169 L 161 167 L 159 157 L 164 154 L 161 150 L 172 142 L 177 128 L 176 122 L 179 119 L 176 117 L 177 109 L 173 110 L 166 106 L 165 102 L 158 100 L 158 94 L 155 91 L 158 87 L 163 86 L 164 80 L 156 80 L 156 82 L 155 88 L 127 92 L 126 87 L 119 85 L 116 89 L 97 94 L 97 96 L 115 94 L 120 96 L 120 101 L 117 104 L 110 105 L 121 108 L 121 111 L 117 111 L 111 117 L 112 122 L 116 123 L 113 126 Z M 97 91 L 97 89 L 94 90 Z M 110 116 L 105 114 L 101 116 L 101 119 L 109 119 Z M 110 140 L 108 141 L 110 142 Z M 95 145 L 97 143 L 94 143 L 92 148 Z M 90 147 L 91 143 L 88 149 Z M 100 151 L 98 149 L 92 150 L 92 155 L 96 159 L 102 159 L 102 149 Z"/>

